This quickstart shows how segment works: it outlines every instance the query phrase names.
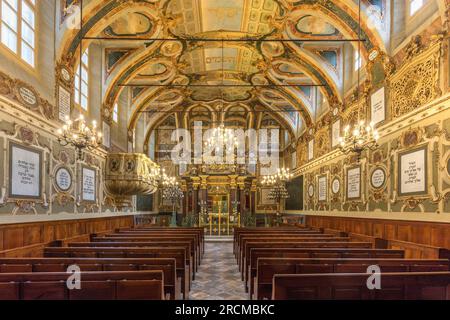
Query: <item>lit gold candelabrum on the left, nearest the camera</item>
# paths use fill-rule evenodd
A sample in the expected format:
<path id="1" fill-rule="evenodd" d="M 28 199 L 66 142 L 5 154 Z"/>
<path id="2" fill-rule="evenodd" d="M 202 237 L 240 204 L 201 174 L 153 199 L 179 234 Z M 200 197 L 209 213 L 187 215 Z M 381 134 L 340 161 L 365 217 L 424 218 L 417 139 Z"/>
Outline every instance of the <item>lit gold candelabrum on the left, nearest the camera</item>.
<path id="1" fill-rule="evenodd" d="M 65 124 L 58 130 L 58 142 L 62 146 L 75 147 L 78 160 L 82 158 L 83 150 L 97 148 L 101 139 L 102 134 L 97 131 L 97 122 L 92 121 L 92 126 L 89 127 L 83 115 L 75 120 L 66 117 Z"/>

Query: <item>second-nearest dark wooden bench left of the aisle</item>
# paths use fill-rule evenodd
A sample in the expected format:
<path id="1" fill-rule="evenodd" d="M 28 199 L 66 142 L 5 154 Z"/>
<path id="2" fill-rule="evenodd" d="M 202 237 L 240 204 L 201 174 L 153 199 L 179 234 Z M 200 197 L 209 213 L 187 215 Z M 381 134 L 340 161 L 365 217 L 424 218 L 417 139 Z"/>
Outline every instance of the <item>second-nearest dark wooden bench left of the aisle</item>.
<path id="1" fill-rule="evenodd" d="M 66 272 L 71 265 L 85 271 L 161 270 L 164 292 L 168 299 L 181 297 L 181 279 L 176 275 L 176 260 L 170 258 L 114 259 L 114 258 L 0 258 L 0 273 Z"/>

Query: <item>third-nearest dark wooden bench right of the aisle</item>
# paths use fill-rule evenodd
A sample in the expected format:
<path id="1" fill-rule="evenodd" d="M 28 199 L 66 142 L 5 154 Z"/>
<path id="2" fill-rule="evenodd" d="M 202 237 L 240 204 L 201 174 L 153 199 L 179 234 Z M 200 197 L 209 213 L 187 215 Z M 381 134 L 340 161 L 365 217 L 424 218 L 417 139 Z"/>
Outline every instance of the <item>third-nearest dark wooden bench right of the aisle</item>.
<path id="1" fill-rule="evenodd" d="M 248 281 L 256 276 L 258 258 L 383 258 L 403 259 L 404 251 L 390 249 L 361 248 L 252 248 L 246 261 L 245 289 L 248 292 Z"/>

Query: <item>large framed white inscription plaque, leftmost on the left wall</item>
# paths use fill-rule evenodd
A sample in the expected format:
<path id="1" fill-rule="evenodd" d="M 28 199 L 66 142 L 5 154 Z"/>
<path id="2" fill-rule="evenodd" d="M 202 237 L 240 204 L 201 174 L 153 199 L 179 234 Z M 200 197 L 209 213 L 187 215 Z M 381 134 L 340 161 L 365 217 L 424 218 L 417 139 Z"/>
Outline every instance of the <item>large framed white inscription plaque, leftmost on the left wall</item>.
<path id="1" fill-rule="evenodd" d="M 42 151 L 10 142 L 9 196 L 42 198 Z"/>

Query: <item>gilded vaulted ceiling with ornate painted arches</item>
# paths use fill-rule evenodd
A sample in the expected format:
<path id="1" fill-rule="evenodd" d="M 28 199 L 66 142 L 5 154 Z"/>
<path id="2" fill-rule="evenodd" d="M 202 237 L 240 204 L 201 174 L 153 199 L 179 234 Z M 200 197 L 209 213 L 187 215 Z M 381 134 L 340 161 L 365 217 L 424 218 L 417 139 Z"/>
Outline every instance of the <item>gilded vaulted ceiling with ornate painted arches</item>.
<path id="1" fill-rule="evenodd" d="M 384 37 L 365 9 L 382 12 L 383 3 L 363 1 L 366 58 L 384 51 Z M 226 109 L 248 127 L 267 112 L 295 136 L 312 124 L 317 94 L 330 106 L 342 103 L 340 40 L 358 37 L 352 0 L 91 0 L 82 12 L 81 30 L 62 30 L 60 60 L 75 65 L 80 44 L 84 50 L 99 41 L 102 114 L 108 119 L 131 88 L 130 130 L 145 110 L 158 111 L 148 116 L 150 130 L 174 111 L 184 114 L 179 123 L 186 126 L 191 111 L 219 118 Z"/>

